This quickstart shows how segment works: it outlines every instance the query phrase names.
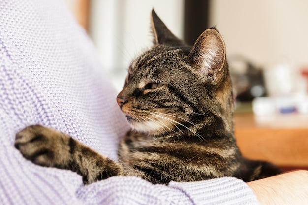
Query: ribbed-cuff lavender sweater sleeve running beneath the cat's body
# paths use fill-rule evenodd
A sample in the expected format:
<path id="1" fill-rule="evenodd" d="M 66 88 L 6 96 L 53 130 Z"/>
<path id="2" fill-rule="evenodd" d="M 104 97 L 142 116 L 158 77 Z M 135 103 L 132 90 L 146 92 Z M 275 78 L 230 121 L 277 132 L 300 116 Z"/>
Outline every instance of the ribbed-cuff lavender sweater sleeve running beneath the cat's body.
<path id="1" fill-rule="evenodd" d="M 199 182 L 153 185 L 136 177 L 112 177 L 83 187 L 85 204 L 108 205 L 259 205 L 242 180 L 224 177 Z"/>

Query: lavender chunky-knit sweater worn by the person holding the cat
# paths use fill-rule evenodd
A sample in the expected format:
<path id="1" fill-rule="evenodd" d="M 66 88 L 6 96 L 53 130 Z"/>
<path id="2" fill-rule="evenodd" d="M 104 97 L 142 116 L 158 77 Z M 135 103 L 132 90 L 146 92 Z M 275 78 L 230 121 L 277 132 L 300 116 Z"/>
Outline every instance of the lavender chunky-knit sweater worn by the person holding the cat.
<path id="1" fill-rule="evenodd" d="M 117 159 L 128 129 L 92 43 L 61 0 L 0 0 L 0 205 L 255 205 L 235 178 L 153 185 L 111 177 L 88 186 L 40 167 L 14 148 L 15 133 L 43 124 Z"/>

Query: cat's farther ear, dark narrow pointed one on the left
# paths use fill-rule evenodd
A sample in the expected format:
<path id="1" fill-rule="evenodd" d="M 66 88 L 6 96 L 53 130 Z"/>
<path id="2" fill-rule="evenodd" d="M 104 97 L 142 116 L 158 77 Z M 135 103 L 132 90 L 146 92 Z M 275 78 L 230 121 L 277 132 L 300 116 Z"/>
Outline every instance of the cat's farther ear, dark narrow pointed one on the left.
<path id="1" fill-rule="evenodd" d="M 180 46 L 185 45 L 184 41 L 177 38 L 160 20 L 160 18 L 152 10 L 151 15 L 151 26 L 153 31 L 153 43 L 154 44 L 164 44 L 168 46 Z"/>

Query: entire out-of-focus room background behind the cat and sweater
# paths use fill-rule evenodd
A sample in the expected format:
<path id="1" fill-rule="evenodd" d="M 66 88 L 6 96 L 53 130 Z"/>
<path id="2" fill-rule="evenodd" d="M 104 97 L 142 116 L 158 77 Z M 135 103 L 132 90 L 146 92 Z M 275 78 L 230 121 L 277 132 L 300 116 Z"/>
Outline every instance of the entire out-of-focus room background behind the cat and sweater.
<path id="1" fill-rule="evenodd" d="M 120 91 L 127 67 L 151 46 L 150 12 L 193 44 L 216 26 L 236 95 L 244 156 L 308 169 L 307 0 L 64 0 Z"/>

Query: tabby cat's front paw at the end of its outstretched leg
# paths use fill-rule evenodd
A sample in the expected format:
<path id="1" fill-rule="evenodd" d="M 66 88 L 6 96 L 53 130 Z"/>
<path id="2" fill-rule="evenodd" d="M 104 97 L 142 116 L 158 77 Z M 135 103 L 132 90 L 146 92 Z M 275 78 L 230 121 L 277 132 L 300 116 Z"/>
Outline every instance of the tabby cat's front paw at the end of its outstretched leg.
<path id="1" fill-rule="evenodd" d="M 14 146 L 33 163 L 59 167 L 69 157 L 67 144 L 70 137 L 42 125 L 31 125 L 16 134 Z"/>

